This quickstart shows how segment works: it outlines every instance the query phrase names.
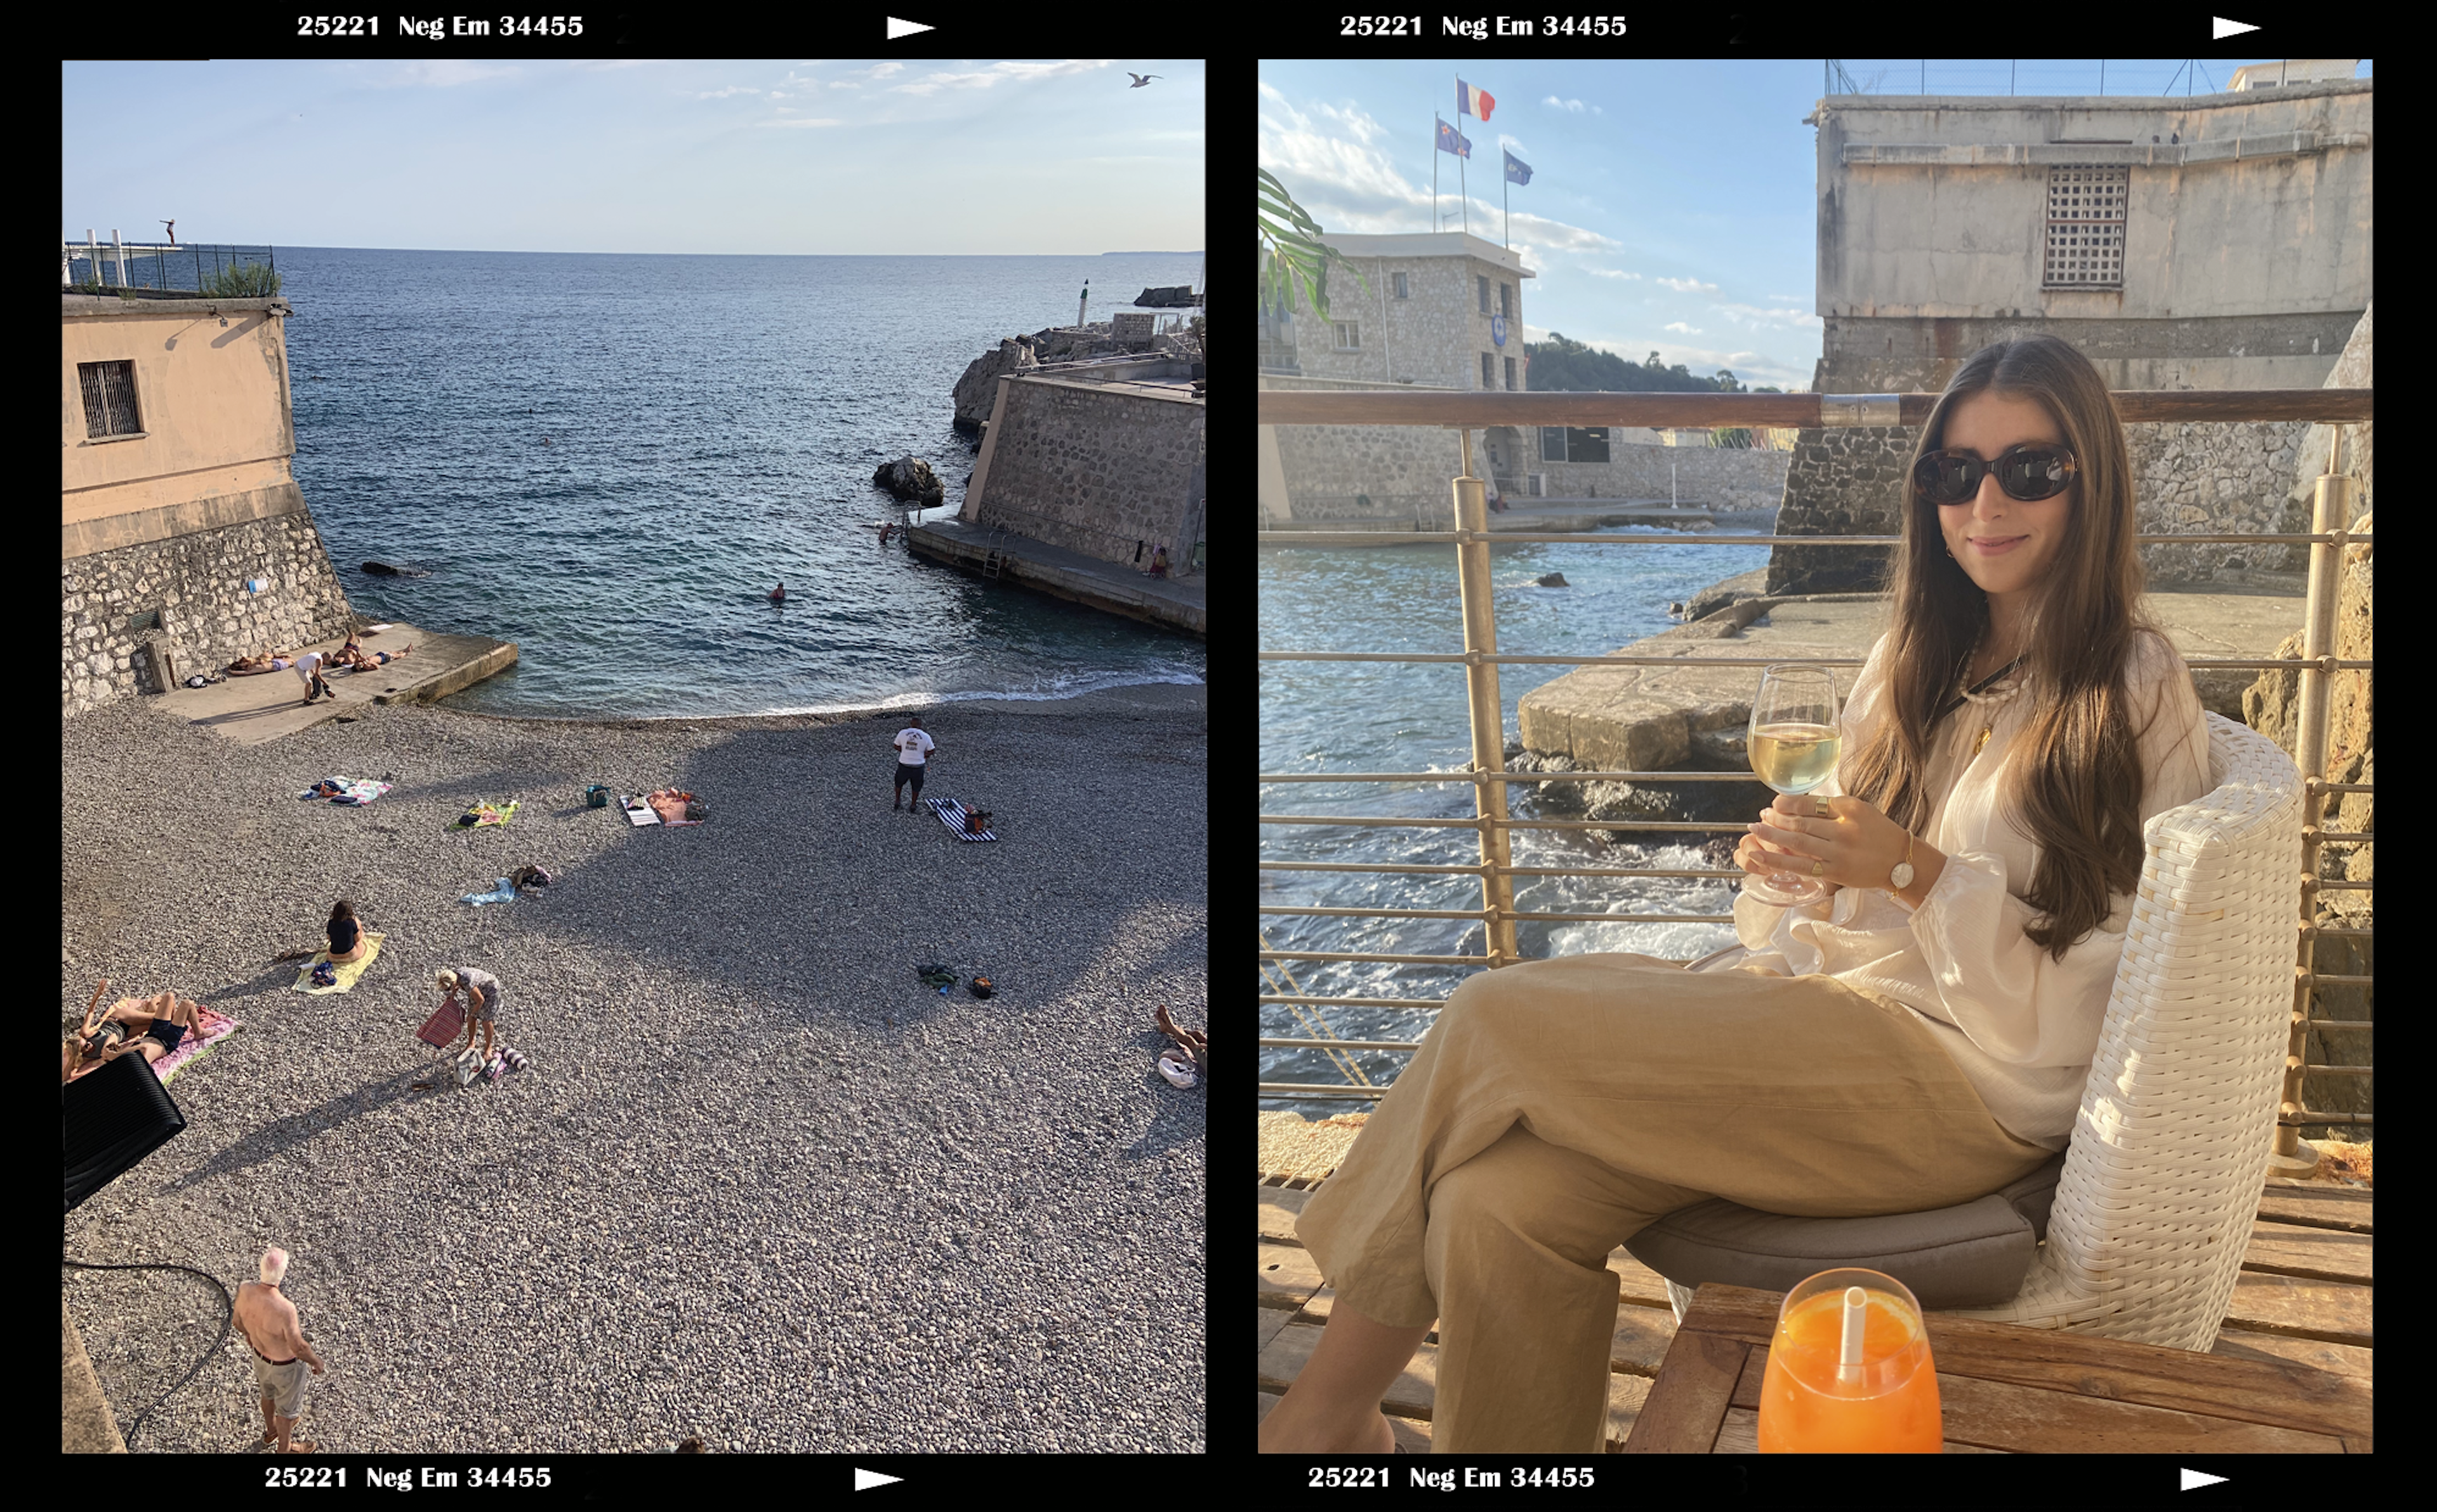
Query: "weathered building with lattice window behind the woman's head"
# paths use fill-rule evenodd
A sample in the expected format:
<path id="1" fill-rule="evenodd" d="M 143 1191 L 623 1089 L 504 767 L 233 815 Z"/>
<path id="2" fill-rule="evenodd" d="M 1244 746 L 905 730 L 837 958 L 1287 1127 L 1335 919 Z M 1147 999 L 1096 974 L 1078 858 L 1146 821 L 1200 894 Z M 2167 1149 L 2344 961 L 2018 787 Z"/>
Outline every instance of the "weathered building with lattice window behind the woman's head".
<path id="1" fill-rule="evenodd" d="M 1937 393 L 1976 349 L 2032 332 L 2074 341 L 2108 388 L 2318 388 L 2371 293 L 2371 80 L 2352 71 L 2264 63 L 2193 98 L 1820 100 L 1811 388 Z M 2288 493 L 2305 429 L 2128 427 L 2140 527 L 2303 529 Z M 1801 432 L 1779 534 L 1896 534 L 1913 441 Z M 1867 588 L 1884 556 L 1779 546 L 1769 590 Z M 2145 561 L 2157 583 L 2298 566 L 2242 544 Z"/>

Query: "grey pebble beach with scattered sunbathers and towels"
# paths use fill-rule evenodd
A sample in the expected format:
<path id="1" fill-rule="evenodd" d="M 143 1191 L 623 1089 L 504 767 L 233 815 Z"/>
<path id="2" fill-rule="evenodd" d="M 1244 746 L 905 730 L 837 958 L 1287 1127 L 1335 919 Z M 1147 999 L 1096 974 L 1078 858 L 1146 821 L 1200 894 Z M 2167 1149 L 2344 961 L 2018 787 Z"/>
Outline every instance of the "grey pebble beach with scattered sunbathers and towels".
<path id="1" fill-rule="evenodd" d="M 1201 1453 L 1201 685 L 921 710 L 551 722 L 383 707 L 236 746 L 146 700 L 63 724 L 61 1017 L 178 990 L 241 1032 L 188 1129 L 66 1217 L 66 1253 L 232 1293 L 266 1244 L 329 1361 L 324 1453 Z M 327 776 L 392 790 L 305 802 Z M 582 790 L 685 788 L 699 827 Z M 451 829 L 519 800 L 507 827 Z M 548 888 L 473 907 L 522 863 Z M 385 934 L 295 993 L 331 900 Z M 916 966 L 992 978 L 941 997 Z M 502 983 L 526 1071 L 458 1088 L 434 971 Z M 434 1083 L 417 1090 L 414 1083 Z M 222 1290 L 63 1271 L 136 1453 L 256 1451 Z"/>

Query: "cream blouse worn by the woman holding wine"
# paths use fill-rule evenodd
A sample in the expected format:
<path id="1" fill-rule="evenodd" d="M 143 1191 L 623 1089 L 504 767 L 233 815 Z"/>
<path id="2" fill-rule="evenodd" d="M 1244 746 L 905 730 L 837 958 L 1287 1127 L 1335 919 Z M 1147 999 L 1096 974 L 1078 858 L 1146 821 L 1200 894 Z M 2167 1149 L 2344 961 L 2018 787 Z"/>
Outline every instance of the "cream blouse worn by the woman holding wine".
<path id="1" fill-rule="evenodd" d="M 2191 668 L 2157 637 L 2135 639 L 2128 678 L 2147 790 L 2140 817 L 2208 790 L 2208 729 Z M 1886 717 L 1886 637 L 1869 651 L 1845 700 L 1845 751 L 1859 751 Z M 1998 778 L 2023 754 L 2023 673 L 1964 702 L 1930 741 L 1928 788 L 1937 793 L 1923 839 L 1947 868 L 1906 907 L 1884 885 L 1840 888 L 1808 907 L 1769 907 L 1735 895 L 1738 966 L 1779 975 L 1833 975 L 1903 1002 L 1937 1034 L 1981 1102 L 2015 1139 L 2064 1149 L 2081 1083 L 2098 1054 L 2132 897 L 2118 893 L 2108 919 L 2057 961 L 2023 936 L 2037 912 L 2023 902 L 2040 849 L 1998 807 Z M 1981 727 L 1989 744 L 1974 754 Z M 1842 793 L 1830 776 L 1818 793 Z"/>

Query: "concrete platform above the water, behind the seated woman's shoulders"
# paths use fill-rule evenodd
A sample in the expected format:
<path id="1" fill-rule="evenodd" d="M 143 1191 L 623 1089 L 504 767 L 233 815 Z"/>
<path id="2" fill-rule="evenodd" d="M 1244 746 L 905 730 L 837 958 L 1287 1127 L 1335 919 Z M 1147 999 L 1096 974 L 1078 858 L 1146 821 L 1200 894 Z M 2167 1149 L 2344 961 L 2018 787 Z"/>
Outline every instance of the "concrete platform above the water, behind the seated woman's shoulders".
<path id="1" fill-rule="evenodd" d="M 2147 600 L 2184 656 L 2274 656 L 2301 632 L 2305 597 L 2276 588 L 2203 585 Z M 1533 688 L 1518 700 L 1523 744 L 1565 754 L 1594 771 L 1728 771 L 1742 749 L 1760 668 L 1711 668 L 1711 656 L 1869 656 L 1884 627 L 1884 600 L 1818 597 L 1781 602 L 1740 634 L 1682 624 L 1618 649 L 1618 656 L 1682 656 L 1686 666 L 1591 666 Z M 1530 651 L 1526 644 L 1501 644 Z M 1837 668 L 1837 693 L 1857 668 Z M 2257 671 L 2198 671 L 2201 705 L 2242 719 L 2242 690 Z M 1703 736 L 1716 736 L 1703 741 Z"/>

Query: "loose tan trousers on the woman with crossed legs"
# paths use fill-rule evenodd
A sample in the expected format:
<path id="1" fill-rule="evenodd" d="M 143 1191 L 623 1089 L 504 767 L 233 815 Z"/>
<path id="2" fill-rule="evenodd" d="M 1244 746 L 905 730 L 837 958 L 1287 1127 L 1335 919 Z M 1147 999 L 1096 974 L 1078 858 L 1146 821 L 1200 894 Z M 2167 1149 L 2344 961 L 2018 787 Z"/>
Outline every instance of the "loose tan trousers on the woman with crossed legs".
<path id="1" fill-rule="evenodd" d="M 1296 1234 L 1338 1302 L 1438 1322 L 1431 1449 L 1596 1453 L 1608 1253 L 1708 1197 L 1794 1217 L 1984 1197 L 2008 1134 L 1918 1017 L 1828 975 L 1560 956 L 1460 985 Z"/>

